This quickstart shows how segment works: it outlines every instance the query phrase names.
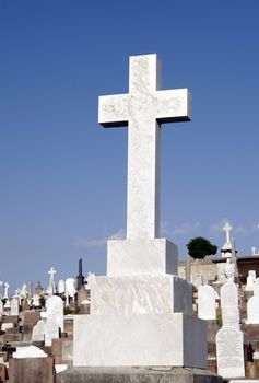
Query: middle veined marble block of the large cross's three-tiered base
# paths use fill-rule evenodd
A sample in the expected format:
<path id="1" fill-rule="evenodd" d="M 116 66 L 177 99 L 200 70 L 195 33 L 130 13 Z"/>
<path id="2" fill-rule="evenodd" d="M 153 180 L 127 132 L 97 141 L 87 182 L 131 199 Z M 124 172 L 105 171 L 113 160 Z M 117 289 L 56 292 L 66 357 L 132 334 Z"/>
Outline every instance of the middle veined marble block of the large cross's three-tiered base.
<path id="1" fill-rule="evenodd" d="M 192 314 L 192 286 L 176 276 L 89 277 L 91 314 Z"/>

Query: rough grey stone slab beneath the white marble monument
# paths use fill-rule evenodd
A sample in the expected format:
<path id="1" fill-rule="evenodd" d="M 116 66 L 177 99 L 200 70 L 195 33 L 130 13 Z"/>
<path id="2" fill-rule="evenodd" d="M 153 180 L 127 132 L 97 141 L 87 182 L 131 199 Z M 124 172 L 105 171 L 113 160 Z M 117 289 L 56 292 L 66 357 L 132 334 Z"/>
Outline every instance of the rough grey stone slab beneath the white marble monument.
<path id="1" fill-rule="evenodd" d="M 74 367 L 57 375 L 56 383 L 222 383 L 217 374 L 190 368 Z"/>

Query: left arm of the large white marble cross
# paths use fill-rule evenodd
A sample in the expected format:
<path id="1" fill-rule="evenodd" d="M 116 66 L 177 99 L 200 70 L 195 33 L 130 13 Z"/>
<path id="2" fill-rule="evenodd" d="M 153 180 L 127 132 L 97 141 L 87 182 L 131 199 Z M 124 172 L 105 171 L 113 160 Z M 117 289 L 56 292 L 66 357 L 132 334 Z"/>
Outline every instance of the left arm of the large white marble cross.
<path id="1" fill-rule="evenodd" d="M 128 94 L 99 97 L 98 123 L 103 127 L 127 126 L 128 119 Z"/>

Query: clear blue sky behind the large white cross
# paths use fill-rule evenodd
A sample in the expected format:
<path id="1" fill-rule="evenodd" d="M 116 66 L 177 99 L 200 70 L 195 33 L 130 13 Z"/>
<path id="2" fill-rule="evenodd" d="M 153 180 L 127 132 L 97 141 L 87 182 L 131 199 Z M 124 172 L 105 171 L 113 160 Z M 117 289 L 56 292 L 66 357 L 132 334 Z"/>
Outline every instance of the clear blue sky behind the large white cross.
<path id="1" fill-rule="evenodd" d="M 258 0 L 0 0 L 0 280 L 105 274 L 126 228 L 127 128 L 97 97 L 128 92 L 128 57 L 157 53 L 193 119 L 163 126 L 162 227 L 239 254 L 259 247 Z"/>

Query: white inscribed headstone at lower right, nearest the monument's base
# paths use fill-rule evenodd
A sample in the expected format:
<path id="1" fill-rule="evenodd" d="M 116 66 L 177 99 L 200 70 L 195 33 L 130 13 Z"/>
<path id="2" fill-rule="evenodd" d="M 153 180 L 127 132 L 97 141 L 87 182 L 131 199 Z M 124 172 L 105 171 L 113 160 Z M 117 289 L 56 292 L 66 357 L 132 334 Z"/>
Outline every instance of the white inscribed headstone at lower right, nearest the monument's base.
<path id="1" fill-rule="evenodd" d="M 236 327 L 222 327 L 216 334 L 216 360 L 219 375 L 245 376 L 244 335 Z"/>

